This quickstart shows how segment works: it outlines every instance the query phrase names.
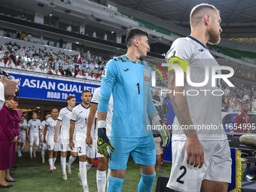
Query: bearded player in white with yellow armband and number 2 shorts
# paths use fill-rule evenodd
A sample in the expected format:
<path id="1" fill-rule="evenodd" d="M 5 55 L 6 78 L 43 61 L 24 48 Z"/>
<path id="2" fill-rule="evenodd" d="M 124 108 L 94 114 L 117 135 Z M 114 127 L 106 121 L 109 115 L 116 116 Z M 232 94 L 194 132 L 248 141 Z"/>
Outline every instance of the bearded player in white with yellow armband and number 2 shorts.
<path id="1" fill-rule="evenodd" d="M 220 23 L 220 13 L 213 5 L 195 6 L 190 12 L 191 34 L 175 40 L 166 54 L 166 62 L 181 67 L 184 72 L 184 87 L 178 87 L 175 85 L 177 74 L 169 67 L 169 90 L 172 90 L 169 96 L 176 114 L 173 125 L 178 129 L 172 132 L 172 171 L 167 187 L 176 191 L 200 191 L 203 184 L 206 192 L 227 192 L 231 182 L 230 147 L 224 130 L 196 130 L 193 127 L 222 124 L 221 95 L 210 94 L 212 90 L 221 91 L 221 80 L 217 79 L 215 87 L 211 81 L 195 87 L 188 84 L 186 78 L 189 69 L 191 82 L 203 82 L 206 70 L 209 70 L 207 78 L 212 79 L 212 70 L 218 62 L 206 44 L 218 44 L 222 32 Z M 221 75 L 221 70 L 215 72 Z M 187 90 L 197 90 L 199 94 L 177 94 L 187 93 Z M 209 94 L 200 90 L 208 90 Z"/>

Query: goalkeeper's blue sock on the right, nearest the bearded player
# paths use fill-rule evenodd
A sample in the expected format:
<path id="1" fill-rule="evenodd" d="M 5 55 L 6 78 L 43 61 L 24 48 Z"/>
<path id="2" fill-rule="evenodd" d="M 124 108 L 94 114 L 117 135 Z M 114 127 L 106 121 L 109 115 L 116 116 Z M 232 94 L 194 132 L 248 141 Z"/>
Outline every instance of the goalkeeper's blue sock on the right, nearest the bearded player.
<path id="1" fill-rule="evenodd" d="M 154 178 L 156 173 L 153 175 L 142 174 L 141 181 L 139 181 L 138 192 L 150 192 L 154 184 Z"/>

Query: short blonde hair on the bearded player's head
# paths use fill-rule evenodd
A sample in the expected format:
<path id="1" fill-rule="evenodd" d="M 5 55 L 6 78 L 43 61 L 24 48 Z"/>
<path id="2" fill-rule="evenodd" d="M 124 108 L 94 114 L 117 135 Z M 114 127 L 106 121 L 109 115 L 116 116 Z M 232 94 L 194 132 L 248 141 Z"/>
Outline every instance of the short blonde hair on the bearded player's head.
<path id="1" fill-rule="evenodd" d="M 196 26 L 206 14 L 211 15 L 212 11 L 220 14 L 220 11 L 215 6 L 207 3 L 195 6 L 190 12 L 190 26 Z"/>

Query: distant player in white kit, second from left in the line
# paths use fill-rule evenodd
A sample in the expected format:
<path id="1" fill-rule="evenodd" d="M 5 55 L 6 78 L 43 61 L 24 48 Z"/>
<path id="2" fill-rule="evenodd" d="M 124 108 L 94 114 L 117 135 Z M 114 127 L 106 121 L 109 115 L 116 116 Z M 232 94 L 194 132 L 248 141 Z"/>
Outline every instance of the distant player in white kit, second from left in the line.
<path id="1" fill-rule="evenodd" d="M 41 121 L 38 120 L 37 114 L 35 112 L 32 113 L 32 119 L 29 120 L 28 128 L 26 129 L 26 137 L 29 139 L 29 153 L 30 159 L 32 160 L 32 152 L 33 156 L 35 156 L 35 151 L 38 149 L 39 145 L 39 129 L 41 126 Z M 35 148 L 32 151 L 33 143 L 35 142 Z"/>

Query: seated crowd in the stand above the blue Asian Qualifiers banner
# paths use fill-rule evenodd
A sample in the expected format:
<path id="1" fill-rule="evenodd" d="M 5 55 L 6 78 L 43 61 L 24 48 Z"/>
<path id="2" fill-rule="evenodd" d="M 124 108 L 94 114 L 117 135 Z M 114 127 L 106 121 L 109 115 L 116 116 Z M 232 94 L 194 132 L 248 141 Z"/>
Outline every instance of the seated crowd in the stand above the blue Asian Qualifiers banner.
<path id="1" fill-rule="evenodd" d="M 67 55 L 60 50 L 54 53 L 49 47 L 44 47 L 43 50 L 34 46 L 20 46 L 11 41 L 0 47 L 0 55 L 1 67 L 95 81 L 101 81 L 101 72 L 109 60 L 107 56 L 93 55 L 90 50 L 80 57 L 75 54 Z"/>

